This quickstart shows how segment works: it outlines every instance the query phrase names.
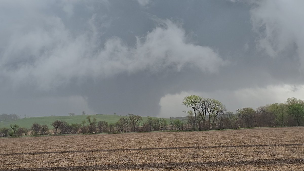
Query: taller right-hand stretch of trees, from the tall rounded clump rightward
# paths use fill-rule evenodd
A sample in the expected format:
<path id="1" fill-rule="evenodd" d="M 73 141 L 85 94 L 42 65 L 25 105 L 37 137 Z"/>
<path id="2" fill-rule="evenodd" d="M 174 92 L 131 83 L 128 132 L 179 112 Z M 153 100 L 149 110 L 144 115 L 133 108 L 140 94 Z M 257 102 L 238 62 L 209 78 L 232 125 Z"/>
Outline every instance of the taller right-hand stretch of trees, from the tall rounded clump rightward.
<path id="1" fill-rule="evenodd" d="M 303 125 L 304 101 L 294 97 L 256 110 L 240 108 L 236 113 L 227 111 L 218 100 L 196 95 L 185 97 L 182 104 L 192 109 L 186 112 L 186 125 L 194 131 Z"/>

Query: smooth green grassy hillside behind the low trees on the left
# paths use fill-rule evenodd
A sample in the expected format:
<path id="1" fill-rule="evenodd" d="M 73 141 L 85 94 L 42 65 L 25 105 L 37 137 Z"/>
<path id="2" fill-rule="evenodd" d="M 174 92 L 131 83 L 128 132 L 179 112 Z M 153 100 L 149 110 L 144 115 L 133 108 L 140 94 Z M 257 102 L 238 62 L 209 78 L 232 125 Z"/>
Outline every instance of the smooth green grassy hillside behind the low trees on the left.
<path id="1" fill-rule="evenodd" d="M 0 122 L 0 128 L 3 127 L 9 127 L 11 124 L 17 124 L 20 127 L 25 127 L 25 128 L 30 128 L 33 123 L 38 123 L 40 125 L 48 125 L 49 128 L 51 128 L 52 122 L 56 120 L 64 120 L 67 121 L 69 124 L 71 123 L 78 123 L 80 124 L 81 121 L 86 120 L 86 117 L 88 115 L 76 115 L 76 116 L 44 116 L 44 117 L 32 117 L 32 118 L 23 118 L 23 119 L 18 119 L 16 121 L 3 121 Z M 121 117 L 126 117 L 126 116 L 119 116 L 119 115 L 90 115 L 91 118 L 96 118 L 97 121 L 107 121 L 109 123 L 115 123 L 118 121 L 119 118 Z M 151 117 L 155 118 L 155 117 Z M 148 117 L 143 117 L 143 122 L 147 121 Z M 175 118 L 172 118 L 175 119 Z M 167 122 L 170 120 L 166 118 Z"/>

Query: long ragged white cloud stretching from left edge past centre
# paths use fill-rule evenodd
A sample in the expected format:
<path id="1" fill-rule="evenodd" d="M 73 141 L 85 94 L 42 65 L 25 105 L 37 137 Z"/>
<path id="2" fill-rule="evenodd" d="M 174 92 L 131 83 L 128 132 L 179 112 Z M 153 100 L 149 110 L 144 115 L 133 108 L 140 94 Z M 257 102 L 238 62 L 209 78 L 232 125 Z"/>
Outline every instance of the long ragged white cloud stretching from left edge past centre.
<path id="1" fill-rule="evenodd" d="M 137 37 L 135 47 L 118 37 L 99 45 L 96 37 L 102 33 L 97 31 L 94 19 L 93 15 L 88 29 L 76 36 L 56 16 L 45 16 L 26 32 L 11 32 L 0 58 L 0 76 L 12 81 L 13 86 L 32 84 L 48 90 L 72 79 L 102 79 L 123 72 L 157 73 L 195 67 L 213 73 L 227 63 L 210 47 L 188 43 L 181 26 L 168 19 L 158 20 L 155 29 Z"/>

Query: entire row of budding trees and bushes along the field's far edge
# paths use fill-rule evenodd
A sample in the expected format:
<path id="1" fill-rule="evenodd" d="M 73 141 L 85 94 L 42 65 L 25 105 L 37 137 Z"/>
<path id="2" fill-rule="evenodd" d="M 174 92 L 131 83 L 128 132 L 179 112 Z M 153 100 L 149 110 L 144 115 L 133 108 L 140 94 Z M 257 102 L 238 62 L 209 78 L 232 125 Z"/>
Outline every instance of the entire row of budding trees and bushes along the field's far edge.
<path id="1" fill-rule="evenodd" d="M 253 108 L 237 109 L 236 113 L 227 112 L 226 107 L 215 99 L 199 96 L 185 97 L 184 105 L 192 108 L 187 111 L 185 120 L 151 118 L 143 122 L 139 115 L 129 114 L 121 117 L 116 123 L 97 121 L 88 116 L 81 123 L 68 124 L 66 121 L 54 121 L 49 132 L 47 125 L 34 123 L 30 129 L 10 125 L 10 128 L 1 128 L 0 137 L 49 134 L 94 134 L 116 132 L 150 132 L 150 131 L 201 131 L 216 129 L 235 129 L 250 127 L 271 126 L 300 126 L 303 125 L 304 101 L 288 98 L 284 103 L 267 104 Z"/>

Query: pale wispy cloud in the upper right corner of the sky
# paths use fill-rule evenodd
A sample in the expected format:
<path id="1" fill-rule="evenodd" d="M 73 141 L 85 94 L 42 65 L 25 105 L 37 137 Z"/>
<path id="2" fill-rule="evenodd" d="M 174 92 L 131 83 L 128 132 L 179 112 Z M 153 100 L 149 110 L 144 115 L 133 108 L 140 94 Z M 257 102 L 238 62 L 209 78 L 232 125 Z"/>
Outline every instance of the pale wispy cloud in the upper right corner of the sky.
<path id="1" fill-rule="evenodd" d="M 250 14 L 259 35 L 257 47 L 272 57 L 296 47 L 304 69 L 304 1 L 257 1 L 253 6 Z"/>

